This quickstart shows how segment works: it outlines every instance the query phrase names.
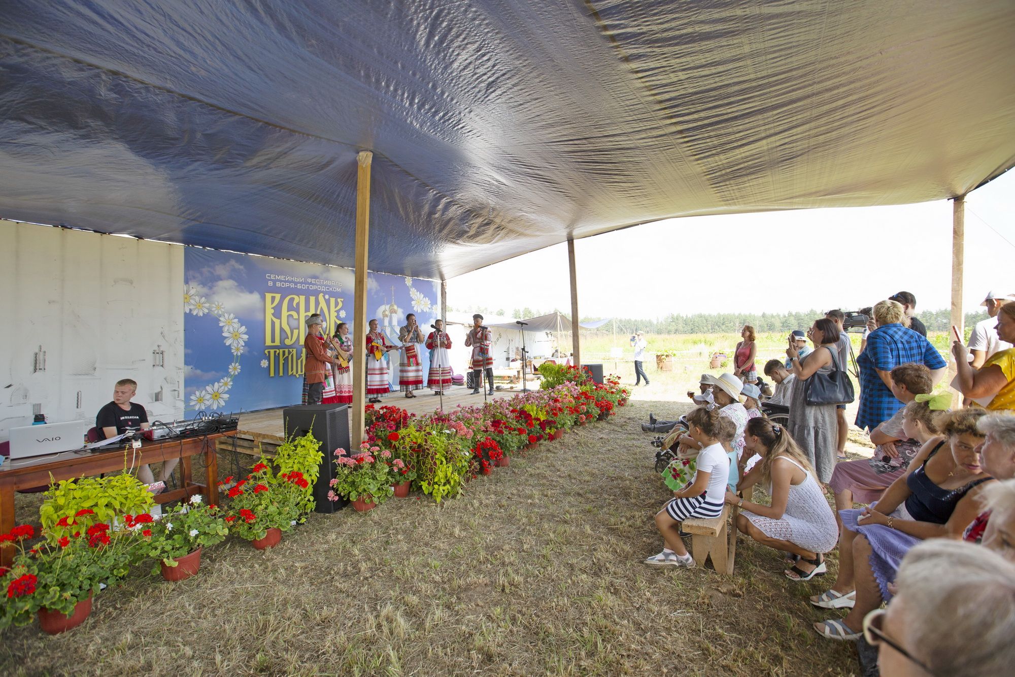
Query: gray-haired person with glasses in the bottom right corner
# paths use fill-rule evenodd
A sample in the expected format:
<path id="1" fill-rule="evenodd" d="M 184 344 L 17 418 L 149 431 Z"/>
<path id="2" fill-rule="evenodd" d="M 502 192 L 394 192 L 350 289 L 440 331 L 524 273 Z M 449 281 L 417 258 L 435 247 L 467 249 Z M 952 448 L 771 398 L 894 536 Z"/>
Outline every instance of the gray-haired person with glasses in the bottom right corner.
<path id="1" fill-rule="evenodd" d="M 864 618 L 881 674 L 979 677 L 1015 665 L 1015 565 L 995 552 L 938 539 L 910 550 L 885 610 Z"/>

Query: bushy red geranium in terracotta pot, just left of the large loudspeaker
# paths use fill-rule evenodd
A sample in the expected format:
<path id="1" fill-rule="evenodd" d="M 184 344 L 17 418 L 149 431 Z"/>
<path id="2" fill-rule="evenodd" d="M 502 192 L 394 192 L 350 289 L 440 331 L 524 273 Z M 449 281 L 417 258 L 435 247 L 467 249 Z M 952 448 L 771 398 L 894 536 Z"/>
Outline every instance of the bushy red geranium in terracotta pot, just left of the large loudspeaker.
<path id="1" fill-rule="evenodd" d="M 228 483 L 231 478 L 226 478 Z M 310 482 L 299 471 L 277 477 L 262 458 L 246 480 L 228 491 L 228 530 L 247 539 L 258 550 L 273 548 L 300 515 L 303 491 Z"/>

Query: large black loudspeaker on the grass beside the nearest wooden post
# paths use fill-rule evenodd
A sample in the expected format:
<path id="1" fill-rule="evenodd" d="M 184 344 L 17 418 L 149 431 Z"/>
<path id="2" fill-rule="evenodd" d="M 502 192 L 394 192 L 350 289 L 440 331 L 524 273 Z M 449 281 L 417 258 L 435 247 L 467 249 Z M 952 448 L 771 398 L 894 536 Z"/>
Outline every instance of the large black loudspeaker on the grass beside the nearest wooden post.
<path id="1" fill-rule="evenodd" d="M 349 504 L 340 498 L 328 500 L 331 481 L 335 478 L 335 449 L 349 450 L 349 406 L 348 405 L 303 405 L 282 410 L 282 423 L 286 437 L 299 437 L 307 431 L 321 442 L 321 470 L 314 484 L 314 511 L 331 513 Z"/>

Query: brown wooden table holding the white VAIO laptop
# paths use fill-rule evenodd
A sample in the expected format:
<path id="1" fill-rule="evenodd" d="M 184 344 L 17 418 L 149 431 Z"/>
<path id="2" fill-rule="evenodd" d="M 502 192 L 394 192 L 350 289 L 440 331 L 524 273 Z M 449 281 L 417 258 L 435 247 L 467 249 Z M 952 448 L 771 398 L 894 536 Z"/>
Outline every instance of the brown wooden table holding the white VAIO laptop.
<path id="1" fill-rule="evenodd" d="M 180 458 L 180 488 L 155 496 L 156 503 L 167 503 L 193 494 L 204 494 L 209 505 L 218 504 L 218 458 L 215 440 L 234 435 L 235 431 L 188 439 L 144 442 L 139 449 L 122 446 L 106 451 L 66 451 L 33 458 L 8 460 L 0 466 L 0 534 L 14 528 L 14 492 L 19 489 L 48 486 L 52 481 L 72 480 L 103 473 L 115 473 L 131 467 Z M 206 484 L 193 480 L 191 458 L 202 454 Z M 0 548 L 0 566 L 9 566 L 14 548 Z"/>

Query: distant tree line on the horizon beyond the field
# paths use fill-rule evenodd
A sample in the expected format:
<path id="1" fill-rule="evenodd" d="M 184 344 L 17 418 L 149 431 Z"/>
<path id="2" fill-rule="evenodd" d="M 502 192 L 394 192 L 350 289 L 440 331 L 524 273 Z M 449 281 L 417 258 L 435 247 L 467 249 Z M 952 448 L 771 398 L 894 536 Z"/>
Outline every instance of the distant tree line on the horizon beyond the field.
<path id="1" fill-rule="evenodd" d="M 534 310 L 532 308 L 452 308 L 448 310 L 461 312 L 478 312 L 484 315 L 509 315 L 520 319 L 527 317 L 538 317 L 546 315 L 553 310 Z M 859 310 L 843 308 L 843 310 Z M 563 314 L 569 314 L 570 310 L 559 310 Z M 927 325 L 929 331 L 947 331 L 950 327 L 950 311 L 948 310 L 925 310 L 917 316 Z M 757 332 L 764 331 L 792 331 L 793 329 L 806 329 L 815 319 L 823 317 L 823 311 L 808 310 L 797 313 L 761 313 L 752 315 L 750 313 L 696 313 L 694 315 L 670 314 L 660 319 L 636 319 L 630 317 L 617 317 L 616 330 L 618 333 L 630 333 L 632 331 L 645 331 L 646 333 L 736 333 L 744 324 L 750 324 Z M 987 317 L 987 311 L 965 314 L 965 325 L 971 326 Z M 583 317 L 582 321 L 592 321 L 603 319 L 601 317 Z M 598 329 L 584 329 L 584 331 L 609 333 L 613 331 L 613 322 L 607 322 Z"/>

